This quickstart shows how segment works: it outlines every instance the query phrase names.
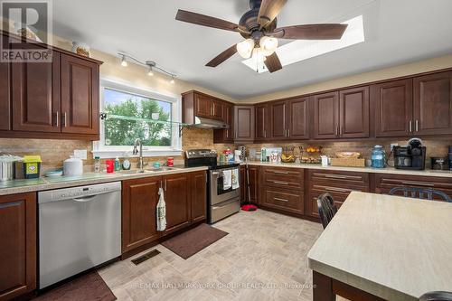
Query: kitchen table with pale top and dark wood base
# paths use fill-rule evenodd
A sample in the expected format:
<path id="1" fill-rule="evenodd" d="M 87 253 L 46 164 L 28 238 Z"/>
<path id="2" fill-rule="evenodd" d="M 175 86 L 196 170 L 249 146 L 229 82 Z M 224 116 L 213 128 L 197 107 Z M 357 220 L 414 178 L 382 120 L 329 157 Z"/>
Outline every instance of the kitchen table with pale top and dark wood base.
<path id="1" fill-rule="evenodd" d="M 308 255 L 314 300 L 452 290 L 452 203 L 353 192 Z"/>

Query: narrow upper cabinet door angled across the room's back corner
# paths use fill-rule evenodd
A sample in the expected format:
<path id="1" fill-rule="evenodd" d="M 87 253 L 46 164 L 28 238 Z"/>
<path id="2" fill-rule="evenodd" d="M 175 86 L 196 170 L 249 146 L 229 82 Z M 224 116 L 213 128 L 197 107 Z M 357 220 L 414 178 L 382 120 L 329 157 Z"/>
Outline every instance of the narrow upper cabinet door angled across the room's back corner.
<path id="1" fill-rule="evenodd" d="M 252 142 L 254 140 L 254 107 L 234 107 L 234 131 L 236 142 Z"/>

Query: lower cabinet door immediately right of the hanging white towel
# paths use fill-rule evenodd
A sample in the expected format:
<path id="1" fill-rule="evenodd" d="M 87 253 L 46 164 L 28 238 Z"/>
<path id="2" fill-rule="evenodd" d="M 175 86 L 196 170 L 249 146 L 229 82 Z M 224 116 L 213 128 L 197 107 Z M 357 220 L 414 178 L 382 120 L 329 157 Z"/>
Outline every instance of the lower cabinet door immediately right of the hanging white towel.
<path id="1" fill-rule="evenodd" d="M 190 185 L 189 174 L 164 176 L 166 202 L 165 235 L 180 230 L 190 224 Z"/>

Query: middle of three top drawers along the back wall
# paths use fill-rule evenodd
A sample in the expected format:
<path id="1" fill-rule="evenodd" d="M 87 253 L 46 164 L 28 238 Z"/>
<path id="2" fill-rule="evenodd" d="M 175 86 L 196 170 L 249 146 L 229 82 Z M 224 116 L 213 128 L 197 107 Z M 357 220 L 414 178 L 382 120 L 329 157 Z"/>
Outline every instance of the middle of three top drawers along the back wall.
<path id="1" fill-rule="evenodd" d="M 310 185 L 321 183 L 332 187 L 369 186 L 369 174 L 333 171 L 309 171 Z"/>

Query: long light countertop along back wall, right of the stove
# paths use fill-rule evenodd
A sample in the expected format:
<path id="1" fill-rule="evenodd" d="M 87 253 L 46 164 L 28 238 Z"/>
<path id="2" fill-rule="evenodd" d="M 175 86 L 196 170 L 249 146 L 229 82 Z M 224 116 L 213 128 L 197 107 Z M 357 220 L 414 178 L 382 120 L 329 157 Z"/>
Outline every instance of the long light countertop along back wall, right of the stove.
<path id="1" fill-rule="evenodd" d="M 297 164 L 297 163 L 268 163 L 259 161 L 250 161 L 249 165 L 258 166 L 272 166 L 272 167 L 292 167 L 292 168 L 306 168 L 306 169 L 318 169 L 318 170 L 331 170 L 341 172 L 358 172 L 358 173 L 372 173 L 372 174 L 405 174 L 405 175 L 420 175 L 420 176 L 438 176 L 452 178 L 452 171 L 442 170 L 405 170 L 395 169 L 394 167 L 386 168 L 372 168 L 372 167 L 341 167 L 341 166 L 328 166 L 322 165 L 309 165 L 309 164 Z"/>

